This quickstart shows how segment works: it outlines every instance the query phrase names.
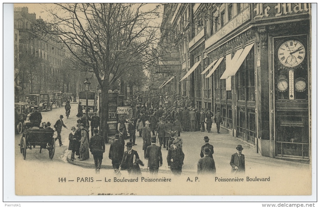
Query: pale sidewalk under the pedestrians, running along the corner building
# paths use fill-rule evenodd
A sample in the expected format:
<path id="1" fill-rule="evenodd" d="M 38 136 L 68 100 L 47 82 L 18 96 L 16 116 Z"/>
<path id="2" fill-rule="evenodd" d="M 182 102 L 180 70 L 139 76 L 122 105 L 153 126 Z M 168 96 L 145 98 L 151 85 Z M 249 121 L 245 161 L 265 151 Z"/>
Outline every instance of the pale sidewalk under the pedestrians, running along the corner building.
<path id="1" fill-rule="evenodd" d="M 248 144 L 245 144 L 235 137 L 228 134 L 228 131 L 220 128 L 221 134 L 216 133 L 215 125 L 212 125 L 212 132 L 182 132 L 181 138 L 183 141 L 182 150 L 185 154 L 184 165 L 182 166 L 182 172 L 184 173 L 196 173 L 197 163 L 200 158 L 201 146 L 204 145 L 204 136 L 209 136 L 209 143 L 214 147 L 213 159 L 217 173 L 229 174 L 231 170 L 230 158 L 231 155 L 236 153 L 236 146 L 241 144 L 244 148 L 242 153 L 245 155 L 246 173 L 256 173 L 257 170 L 263 172 L 275 173 L 277 170 L 281 171 L 297 171 L 297 169 L 308 170 L 309 164 L 299 163 L 295 161 L 287 161 L 275 158 L 269 158 L 261 156 L 255 153 L 254 148 Z M 138 151 L 141 161 L 144 166 L 140 166 L 141 171 L 147 171 L 148 160 L 144 159 L 142 150 L 142 137 L 138 137 L 139 133 L 136 132 L 136 146 L 133 146 L 133 150 Z M 125 143 L 129 142 L 129 139 L 125 140 Z M 159 143 L 156 145 L 159 146 Z M 111 160 L 109 159 L 110 144 L 106 144 L 106 151 L 103 154 L 103 160 L 101 168 L 112 169 Z M 167 163 L 167 150 L 162 148 L 163 166 L 159 168 L 160 173 L 171 173 Z M 94 160 L 92 154 L 90 158 L 85 161 L 70 160 L 71 151 L 68 154 L 67 160 L 69 163 L 84 166 L 87 168 L 94 168 Z"/>

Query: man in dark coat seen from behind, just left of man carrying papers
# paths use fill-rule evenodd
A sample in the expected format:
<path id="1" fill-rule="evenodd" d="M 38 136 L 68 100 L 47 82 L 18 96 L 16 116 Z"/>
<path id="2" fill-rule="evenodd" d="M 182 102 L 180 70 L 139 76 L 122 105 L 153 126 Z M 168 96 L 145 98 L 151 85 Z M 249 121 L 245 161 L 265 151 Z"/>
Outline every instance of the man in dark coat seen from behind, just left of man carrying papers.
<path id="1" fill-rule="evenodd" d="M 112 160 L 112 167 L 115 172 L 119 169 L 123 153 L 124 148 L 119 141 L 119 134 L 116 134 L 115 141 L 111 143 L 109 150 L 109 159 Z"/>

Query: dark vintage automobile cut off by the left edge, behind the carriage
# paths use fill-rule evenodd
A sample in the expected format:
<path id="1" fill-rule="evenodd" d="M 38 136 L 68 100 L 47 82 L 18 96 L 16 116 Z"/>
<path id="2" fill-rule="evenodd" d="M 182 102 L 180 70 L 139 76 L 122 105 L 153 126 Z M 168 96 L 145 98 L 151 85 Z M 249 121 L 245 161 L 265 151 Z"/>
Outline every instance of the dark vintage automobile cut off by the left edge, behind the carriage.
<path id="1" fill-rule="evenodd" d="M 23 132 L 23 123 L 27 119 L 30 106 L 27 102 L 14 103 L 14 126 L 15 132 L 21 134 Z"/>

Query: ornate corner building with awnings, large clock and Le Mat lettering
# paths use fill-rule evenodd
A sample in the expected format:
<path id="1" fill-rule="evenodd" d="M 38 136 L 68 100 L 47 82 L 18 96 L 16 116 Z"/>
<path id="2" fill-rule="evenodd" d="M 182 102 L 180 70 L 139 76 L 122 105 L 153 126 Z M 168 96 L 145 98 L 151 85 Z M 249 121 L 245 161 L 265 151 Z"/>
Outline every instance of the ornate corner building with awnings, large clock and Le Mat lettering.
<path id="1" fill-rule="evenodd" d="M 221 126 L 257 153 L 308 161 L 310 6 L 172 4 L 177 92 L 199 109 L 220 110 Z"/>

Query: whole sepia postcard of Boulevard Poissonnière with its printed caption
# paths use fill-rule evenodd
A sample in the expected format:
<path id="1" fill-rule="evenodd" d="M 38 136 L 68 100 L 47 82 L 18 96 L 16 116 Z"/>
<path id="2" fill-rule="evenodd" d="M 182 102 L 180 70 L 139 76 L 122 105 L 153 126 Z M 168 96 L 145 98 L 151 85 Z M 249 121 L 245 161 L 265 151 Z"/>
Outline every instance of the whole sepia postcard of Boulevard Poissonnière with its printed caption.
<path id="1" fill-rule="evenodd" d="M 311 195 L 312 6 L 14 4 L 15 194 Z"/>

